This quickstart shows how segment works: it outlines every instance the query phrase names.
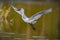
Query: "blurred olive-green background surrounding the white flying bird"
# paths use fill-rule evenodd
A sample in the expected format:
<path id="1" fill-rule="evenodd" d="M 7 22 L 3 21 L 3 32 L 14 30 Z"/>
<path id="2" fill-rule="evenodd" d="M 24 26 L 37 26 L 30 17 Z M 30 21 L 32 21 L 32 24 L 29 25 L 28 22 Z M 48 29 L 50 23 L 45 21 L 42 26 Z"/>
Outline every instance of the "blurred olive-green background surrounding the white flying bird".
<path id="1" fill-rule="evenodd" d="M 56 1 L 40 1 L 41 0 L 0 3 L 0 9 L 2 9 L 0 12 L 0 31 L 15 33 L 12 35 L 13 37 L 31 38 L 32 36 L 45 36 L 49 40 L 60 38 L 59 3 Z M 36 31 L 33 31 L 31 26 L 22 20 L 21 15 L 11 8 L 12 5 L 18 9 L 24 8 L 25 14 L 28 17 L 48 8 L 52 8 L 52 12 L 38 19 L 37 23 L 34 24 Z"/>

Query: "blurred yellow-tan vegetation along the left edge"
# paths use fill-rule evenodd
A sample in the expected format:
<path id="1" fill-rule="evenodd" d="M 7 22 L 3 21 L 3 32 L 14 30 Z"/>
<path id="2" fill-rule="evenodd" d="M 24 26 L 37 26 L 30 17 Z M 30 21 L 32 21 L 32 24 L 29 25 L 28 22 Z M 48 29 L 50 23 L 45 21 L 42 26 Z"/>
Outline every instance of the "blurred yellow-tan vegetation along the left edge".
<path id="1" fill-rule="evenodd" d="M 1 9 L 2 9 L 2 11 L 0 11 L 0 30 L 4 30 L 4 29 L 2 29 L 2 27 L 4 28 L 4 26 L 5 26 L 5 28 L 9 29 L 10 22 L 8 21 L 7 17 L 10 12 L 11 6 L 8 9 L 6 9 L 6 6 L 4 6 Z"/>

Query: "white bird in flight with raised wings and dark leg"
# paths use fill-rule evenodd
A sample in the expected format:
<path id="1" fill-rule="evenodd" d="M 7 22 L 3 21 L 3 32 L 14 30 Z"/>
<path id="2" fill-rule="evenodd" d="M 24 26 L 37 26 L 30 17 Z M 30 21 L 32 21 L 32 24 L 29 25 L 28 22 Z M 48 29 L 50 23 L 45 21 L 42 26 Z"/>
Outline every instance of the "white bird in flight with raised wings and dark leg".
<path id="1" fill-rule="evenodd" d="M 42 15 L 44 14 L 48 14 L 52 11 L 51 8 L 37 12 L 36 14 L 32 15 L 30 18 L 28 18 L 25 13 L 24 13 L 24 9 L 21 8 L 20 10 L 17 9 L 16 7 L 12 6 L 12 8 L 19 13 L 22 16 L 22 19 L 24 20 L 24 22 L 29 23 L 30 25 L 32 25 L 33 30 L 35 30 L 35 28 L 33 27 L 33 24 L 35 24 L 37 22 L 37 19 L 39 19 Z"/>

